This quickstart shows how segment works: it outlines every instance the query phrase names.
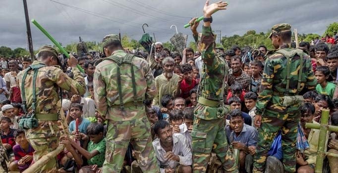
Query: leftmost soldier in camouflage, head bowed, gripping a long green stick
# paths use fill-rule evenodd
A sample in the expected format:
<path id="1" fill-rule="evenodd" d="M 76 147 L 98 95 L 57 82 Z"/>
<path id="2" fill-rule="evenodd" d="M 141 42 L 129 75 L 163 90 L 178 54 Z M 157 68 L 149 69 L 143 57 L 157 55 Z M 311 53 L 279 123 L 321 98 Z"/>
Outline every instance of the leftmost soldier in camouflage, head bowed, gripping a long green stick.
<path id="1" fill-rule="evenodd" d="M 72 68 L 74 78 L 69 78 L 59 65 L 57 51 L 53 47 L 43 46 L 38 53 L 38 60 L 34 61 L 31 66 L 45 66 L 38 70 L 36 78 L 36 102 L 33 101 L 33 73 L 34 70 L 21 71 L 17 75 L 19 86 L 24 83 L 26 98 L 26 108 L 28 112 L 32 111 L 32 103 L 36 105 L 35 118 L 39 121 L 38 127 L 26 130 L 26 137 L 34 148 L 34 162 L 38 161 L 42 156 L 53 151 L 58 146 L 60 131 L 57 126 L 58 116 L 64 116 L 61 109 L 61 100 L 59 98 L 59 87 L 74 94 L 83 94 L 86 91 L 84 78 L 76 68 L 77 60 L 71 56 L 68 59 L 68 65 Z M 27 71 L 28 70 L 28 71 Z M 24 73 L 27 71 L 25 81 L 22 81 Z M 21 92 L 23 94 L 23 92 Z M 24 97 L 21 95 L 22 98 Z M 56 169 L 56 158 L 51 159 L 41 172 L 53 172 Z"/>

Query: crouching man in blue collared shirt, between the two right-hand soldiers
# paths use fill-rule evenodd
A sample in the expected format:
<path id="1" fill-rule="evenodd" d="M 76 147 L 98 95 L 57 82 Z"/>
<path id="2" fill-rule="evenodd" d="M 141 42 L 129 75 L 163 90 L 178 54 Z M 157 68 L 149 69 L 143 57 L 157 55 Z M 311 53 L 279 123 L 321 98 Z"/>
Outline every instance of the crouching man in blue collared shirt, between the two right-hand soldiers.
<path id="1" fill-rule="evenodd" d="M 239 173 L 246 173 L 246 168 L 250 170 L 253 164 L 253 156 L 249 153 L 253 153 L 256 149 L 258 131 L 254 127 L 244 124 L 242 112 L 239 109 L 232 110 L 229 116 L 230 126 L 225 127 L 227 141 L 229 145 L 239 150 L 239 155 L 237 155 L 239 157 Z"/>

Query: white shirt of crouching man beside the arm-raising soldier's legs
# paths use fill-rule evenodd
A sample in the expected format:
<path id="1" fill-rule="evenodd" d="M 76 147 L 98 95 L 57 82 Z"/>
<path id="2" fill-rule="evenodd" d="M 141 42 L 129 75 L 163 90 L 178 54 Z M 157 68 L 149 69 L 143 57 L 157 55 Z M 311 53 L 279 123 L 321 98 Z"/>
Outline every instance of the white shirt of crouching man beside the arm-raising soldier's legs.
<path id="1" fill-rule="evenodd" d="M 158 165 L 161 167 L 161 173 L 165 173 L 165 168 L 174 169 L 178 165 L 189 166 L 192 164 L 192 153 L 188 145 L 187 139 L 180 133 L 172 134 L 172 153 L 179 157 L 179 162 L 168 160 L 165 158 L 166 150 L 161 146 L 160 138 L 153 141 Z"/>

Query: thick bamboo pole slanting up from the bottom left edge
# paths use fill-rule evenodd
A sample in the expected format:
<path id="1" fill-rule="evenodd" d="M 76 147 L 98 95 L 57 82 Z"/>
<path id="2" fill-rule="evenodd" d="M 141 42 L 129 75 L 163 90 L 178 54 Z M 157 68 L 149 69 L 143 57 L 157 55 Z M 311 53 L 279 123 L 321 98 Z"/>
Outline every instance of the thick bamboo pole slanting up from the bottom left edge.
<path id="1" fill-rule="evenodd" d="M 64 149 L 64 145 L 60 144 L 55 150 L 51 151 L 50 153 L 42 156 L 37 162 L 35 162 L 33 165 L 31 165 L 27 170 L 25 170 L 23 173 L 37 173 L 41 170 L 41 168 L 48 163 L 48 161 L 56 157 L 60 152 L 62 152 Z"/>

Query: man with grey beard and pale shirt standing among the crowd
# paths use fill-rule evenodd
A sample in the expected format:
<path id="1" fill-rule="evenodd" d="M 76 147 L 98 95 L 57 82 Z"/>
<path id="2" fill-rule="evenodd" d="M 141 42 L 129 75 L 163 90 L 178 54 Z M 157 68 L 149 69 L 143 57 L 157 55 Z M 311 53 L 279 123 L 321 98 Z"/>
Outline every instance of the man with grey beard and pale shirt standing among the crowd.
<path id="1" fill-rule="evenodd" d="M 166 57 L 162 61 L 163 73 L 155 78 L 156 88 L 158 90 L 154 105 L 161 105 L 161 98 L 163 95 L 169 94 L 177 97 L 180 94 L 180 87 L 183 75 L 176 75 L 173 73 L 173 66 L 175 62 L 171 57 Z"/>

